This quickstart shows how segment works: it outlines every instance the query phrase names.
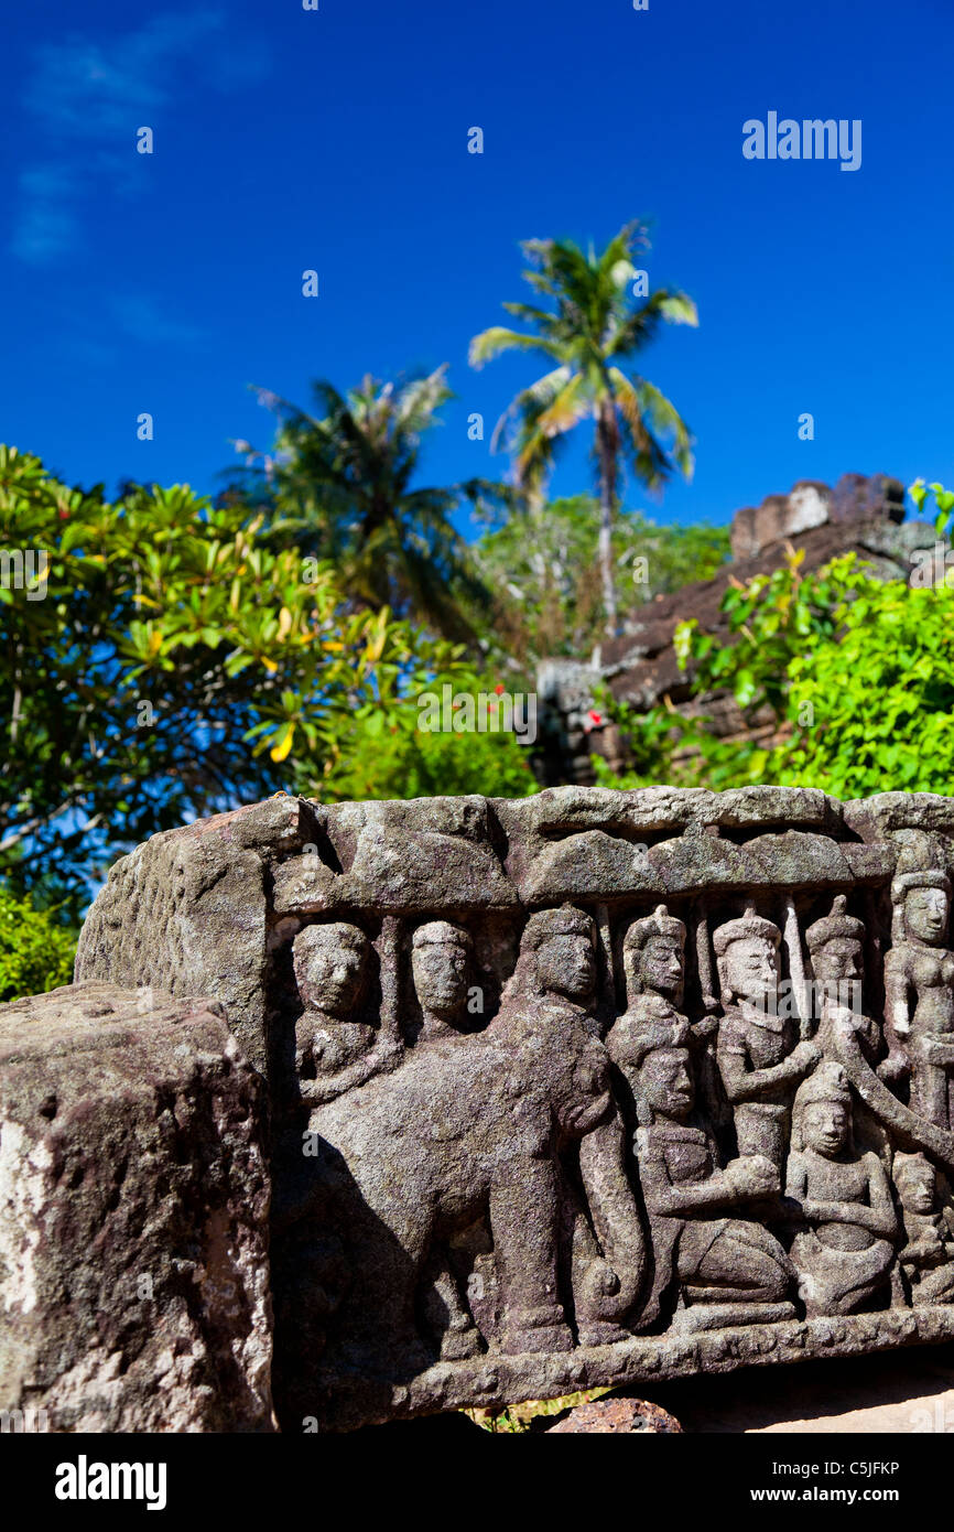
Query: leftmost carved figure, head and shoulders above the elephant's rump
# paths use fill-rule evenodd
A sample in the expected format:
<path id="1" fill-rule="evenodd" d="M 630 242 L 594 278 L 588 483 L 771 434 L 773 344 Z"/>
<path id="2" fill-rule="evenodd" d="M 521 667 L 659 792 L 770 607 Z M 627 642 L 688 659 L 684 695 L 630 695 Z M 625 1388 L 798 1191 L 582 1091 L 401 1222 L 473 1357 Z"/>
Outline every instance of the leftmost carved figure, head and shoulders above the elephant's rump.
<path id="1" fill-rule="evenodd" d="M 374 1026 L 358 1020 L 369 962 L 371 942 L 357 925 L 306 925 L 294 939 L 292 967 L 305 1007 L 296 1022 L 296 1074 L 303 1102 L 329 1100 L 360 1085 L 395 1051 Z"/>

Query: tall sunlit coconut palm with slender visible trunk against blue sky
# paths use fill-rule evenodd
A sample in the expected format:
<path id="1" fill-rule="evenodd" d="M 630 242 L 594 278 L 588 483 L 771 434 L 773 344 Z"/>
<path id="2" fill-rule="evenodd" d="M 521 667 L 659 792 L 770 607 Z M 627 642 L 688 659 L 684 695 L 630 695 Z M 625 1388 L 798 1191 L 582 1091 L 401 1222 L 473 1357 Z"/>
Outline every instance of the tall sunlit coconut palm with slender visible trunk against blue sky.
<path id="1" fill-rule="evenodd" d="M 626 224 L 597 254 L 573 241 L 530 239 L 525 280 L 551 303 L 504 303 L 507 313 L 534 326 L 531 334 L 495 325 L 470 342 L 479 368 L 504 351 L 536 351 L 556 366 L 522 389 L 502 415 L 495 444 L 508 435 L 515 476 L 531 502 L 553 467 L 554 453 L 574 426 L 594 424 L 594 461 L 600 499 L 599 559 L 606 631 L 616 631 L 611 533 L 620 467 L 628 461 L 651 490 L 678 467 L 692 475 L 692 437 L 674 404 L 645 377 L 625 372 L 663 322 L 697 325 L 695 303 L 684 293 L 657 288 L 632 305 L 643 285 L 634 264 L 649 248 L 645 227 Z"/>

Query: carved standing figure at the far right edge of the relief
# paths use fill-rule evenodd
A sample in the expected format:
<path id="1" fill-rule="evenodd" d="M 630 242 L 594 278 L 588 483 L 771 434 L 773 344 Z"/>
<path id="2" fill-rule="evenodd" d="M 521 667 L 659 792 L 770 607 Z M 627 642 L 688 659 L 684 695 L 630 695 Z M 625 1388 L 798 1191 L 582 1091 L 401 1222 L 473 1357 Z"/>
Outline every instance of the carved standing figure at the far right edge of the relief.
<path id="1" fill-rule="evenodd" d="M 899 859 L 899 866 L 903 863 Z M 887 1079 L 911 1074 L 911 1111 L 954 1126 L 954 953 L 951 882 L 940 869 L 902 870 L 891 884 L 896 941 L 885 954 Z"/>

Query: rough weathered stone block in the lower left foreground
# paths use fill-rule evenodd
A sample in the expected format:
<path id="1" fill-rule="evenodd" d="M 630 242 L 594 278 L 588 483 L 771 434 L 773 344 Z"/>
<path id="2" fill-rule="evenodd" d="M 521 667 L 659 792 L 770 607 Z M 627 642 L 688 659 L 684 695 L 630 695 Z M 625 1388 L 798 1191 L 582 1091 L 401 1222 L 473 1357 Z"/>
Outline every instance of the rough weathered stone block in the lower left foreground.
<path id="1" fill-rule="evenodd" d="M 0 1007 L 0 1409 L 274 1429 L 262 1117 L 216 1002 L 86 984 Z"/>

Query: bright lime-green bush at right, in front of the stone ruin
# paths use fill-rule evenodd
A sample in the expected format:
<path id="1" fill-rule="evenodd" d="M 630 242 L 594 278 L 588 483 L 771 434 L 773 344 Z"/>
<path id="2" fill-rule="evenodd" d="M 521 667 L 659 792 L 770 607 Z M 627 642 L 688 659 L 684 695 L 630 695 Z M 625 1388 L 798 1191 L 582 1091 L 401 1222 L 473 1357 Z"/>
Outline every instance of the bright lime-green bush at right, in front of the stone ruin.
<path id="1" fill-rule="evenodd" d="M 931 489 L 942 532 L 954 496 Z M 925 496 L 913 498 L 920 509 Z M 795 555 L 773 574 L 729 588 L 729 645 L 694 620 L 677 633 L 680 662 L 695 665 L 694 696 L 730 689 L 749 719 L 767 706 L 775 743 L 717 740 L 704 720 L 677 720 L 665 709 L 625 715 L 623 725 L 645 731 L 649 751 L 663 731 L 645 777 L 658 781 L 666 772 L 666 780 L 714 789 L 766 781 L 839 798 L 954 792 L 954 587 L 946 579 L 882 582 L 854 555 L 810 576 L 799 565 Z M 677 745 L 694 745 L 698 755 L 672 772 Z M 597 772 L 622 784 L 605 768 Z"/>

